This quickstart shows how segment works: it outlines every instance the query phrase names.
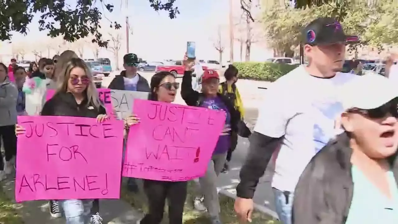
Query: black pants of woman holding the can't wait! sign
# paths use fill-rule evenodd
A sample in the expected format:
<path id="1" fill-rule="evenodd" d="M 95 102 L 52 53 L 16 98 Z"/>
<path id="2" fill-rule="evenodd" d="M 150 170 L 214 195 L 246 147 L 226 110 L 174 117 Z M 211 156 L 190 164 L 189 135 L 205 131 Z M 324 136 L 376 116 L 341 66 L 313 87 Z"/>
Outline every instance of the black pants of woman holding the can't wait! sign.
<path id="1" fill-rule="evenodd" d="M 187 181 L 167 182 L 144 180 L 144 192 L 148 198 L 149 211 L 140 224 L 160 224 L 163 219 L 166 198 L 169 206 L 169 224 L 182 224 Z"/>

